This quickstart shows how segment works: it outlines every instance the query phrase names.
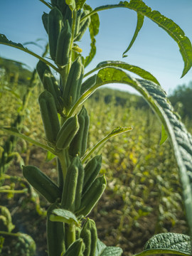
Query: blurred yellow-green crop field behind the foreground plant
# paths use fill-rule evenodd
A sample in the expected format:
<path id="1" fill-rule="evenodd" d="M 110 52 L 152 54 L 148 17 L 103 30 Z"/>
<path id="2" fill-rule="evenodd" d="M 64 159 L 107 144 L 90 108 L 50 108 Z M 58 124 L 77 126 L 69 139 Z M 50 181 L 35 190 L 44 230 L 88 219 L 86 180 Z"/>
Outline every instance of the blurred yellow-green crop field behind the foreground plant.
<path id="1" fill-rule="evenodd" d="M 9 127 L 21 111 L 20 92 L 25 94 L 26 86 L 13 82 L 8 90 L 6 84 L 6 78 L 2 77 L 0 125 Z M 22 133 L 44 142 L 43 123 L 36 100 L 41 90 L 42 86 L 37 82 L 24 112 Z M 124 95 L 124 92 L 119 94 Z M 110 95 L 110 100 L 107 95 Z M 188 228 L 183 215 L 178 170 L 169 140 L 159 145 L 161 124 L 144 102 L 143 106 L 139 106 L 140 97 L 127 93 L 125 98 L 123 105 L 117 104 L 114 91 L 101 89 L 85 102 L 85 107 L 90 114 L 88 149 L 117 125 L 133 128 L 129 133 L 110 139 L 95 152 L 102 154 L 101 174 L 107 177 L 107 188 L 90 213 L 90 217 L 95 219 L 100 240 L 109 246 L 122 247 L 124 255 L 132 255 L 142 250 L 152 234 L 188 234 Z M 1 155 L 6 139 L 8 137 L 1 132 Z M 46 256 L 48 203 L 42 196 L 39 203 L 36 192 L 23 181 L 21 165 L 36 165 L 56 182 L 55 159 L 23 139 L 18 139 L 14 152 L 16 154 L 7 166 L 5 176 L 1 177 L 5 179 L 0 190 L 1 206 L 9 209 L 14 231 L 31 235 L 36 242 L 37 255 Z M 10 192 L 4 193 L 5 189 Z M 14 190 L 21 193 L 14 193 Z M 44 230 L 41 235 L 39 228 Z M 6 238 L 1 255 L 13 255 L 13 252 L 14 256 L 25 255 L 24 249 L 22 240 Z"/>

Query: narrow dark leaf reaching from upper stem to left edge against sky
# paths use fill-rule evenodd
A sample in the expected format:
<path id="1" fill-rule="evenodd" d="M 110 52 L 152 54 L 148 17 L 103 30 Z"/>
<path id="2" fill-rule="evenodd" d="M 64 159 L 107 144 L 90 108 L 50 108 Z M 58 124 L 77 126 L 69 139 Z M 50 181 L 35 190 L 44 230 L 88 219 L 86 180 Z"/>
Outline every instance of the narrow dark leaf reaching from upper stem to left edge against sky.
<path id="1" fill-rule="evenodd" d="M 34 57 L 38 58 L 39 60 L 42 60 L 44 63 L 50 65 L 51 68 L 53 68 L 54 70 L 59 72 L 58 68 L 56 68 L 55 65 L 53 65 L 52 63 L 48 62 L 48 60 L 46 60 L 43 57 L 37 55 L 36 53 L 33 53 L 31 50 L 28 50 L 28 48 L 24 47 L 21 43 L 14 43 L 12 41 L 9 41 L 9 39 L 6 38 L 6 36 L 1 34 L 1 33 L 0 33 L 0 43 L 4 44 L 6 46 L 11 46 L 11 47 L 17 48 L 19 50 L 23 50 L 24 52 L 33 55 Z"/>

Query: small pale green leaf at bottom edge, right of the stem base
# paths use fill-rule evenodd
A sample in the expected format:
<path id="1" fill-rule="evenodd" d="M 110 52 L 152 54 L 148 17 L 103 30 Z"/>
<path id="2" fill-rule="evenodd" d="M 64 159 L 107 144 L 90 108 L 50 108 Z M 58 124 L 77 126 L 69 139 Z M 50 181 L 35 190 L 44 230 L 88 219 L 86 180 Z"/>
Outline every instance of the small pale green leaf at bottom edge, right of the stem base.
<path id="1" fill-rule="evenodd" d="M 120 247 L 107 247 L 103 242 L 97 239 L 97 247 L 95 256 L 120 256 L 122 255 L 122 248 Z"/>

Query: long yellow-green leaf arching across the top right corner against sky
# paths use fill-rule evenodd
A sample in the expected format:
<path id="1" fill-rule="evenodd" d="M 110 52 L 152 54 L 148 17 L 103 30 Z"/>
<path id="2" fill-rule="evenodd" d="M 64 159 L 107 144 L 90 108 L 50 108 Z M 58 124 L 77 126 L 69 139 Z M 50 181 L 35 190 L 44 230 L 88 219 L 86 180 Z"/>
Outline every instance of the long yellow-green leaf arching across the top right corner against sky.
<path id="1" fill-rule="evenodd" d="M 151 8 L 149 6 L 146 6 L 143 1 L 131 0 L 129 3 L 127 1 L 120 1 L 119 4 L 100 6 L 95 8 L 92 12 L 90 12 L 90 14 L 87 14 L 87 16 L 93 15 L 98 11 L 119 7 L 137 11 L 137 14 L 150 18 L 151 21 L 154 21 L 154 23 L 156 23 L 159 27 L 163 28 L 164 31 L 166 31 L 166 33 L 168 33 L 169 36 L 174 39 L 174 41 L 176 41 L 182 55 L 184 68 L 181 78 L 186 75 L 186 73 L 188 73 L 188 70 L 190 70 L 192 66 L 191 41 L 188 39 L 188 37 L 185 36 L 183 30 L 176 23 L 174 23 L 174 21 L 172 21 L 170 18 L 166 18 L 166 16 L 160 14 L 159 11 L 151 11 Z M 86 18 L 87 16 L 83 18 Z"/>

